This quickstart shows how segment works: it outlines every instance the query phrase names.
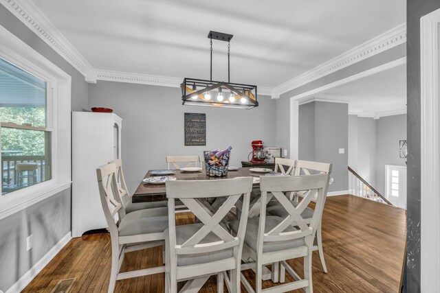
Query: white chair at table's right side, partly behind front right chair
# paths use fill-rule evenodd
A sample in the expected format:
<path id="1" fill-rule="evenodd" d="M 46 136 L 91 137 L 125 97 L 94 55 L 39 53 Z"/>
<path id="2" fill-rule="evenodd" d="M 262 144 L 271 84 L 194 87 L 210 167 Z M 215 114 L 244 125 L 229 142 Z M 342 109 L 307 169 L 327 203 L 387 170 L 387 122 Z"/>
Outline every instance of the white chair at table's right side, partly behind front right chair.
<path id="1" fill-rule="evenodd" d="M 310 174 L 331 174 L 331 168 L 332 165 L 329 163 L 319 163 L 319 162 L 311 162 L 311 161 L 296 161 L 296 168 L 295 168 L 295 175 L 310 175 Z M 327 188 L 325 189 L 325 195 L 327 197 Z M 307 191 L 297 191 L 294 193 L 289 193 L 290 200 L 292 201 L 292 204 L 294 206 L 297 206 L 299 204 L 298 200 L 299 198 L 304 198 L 305 192 Z M 296 196 L 296 198 L 293 198 L 292 194 Z M 271 201 L 267 204 L 267 213 L 270 213 L 270 215 L 278 215 L 279 217 L 283 217 L 286 215 L 286 211 L 283 207 L 281 207 L 281 204 L 277 201 Z M 309 224 L 312 219 L 312 215 L 314 214 L 314 210 L 307 207 L 303 211 L 303 218 Z M 313 250 L 318 250 L 322 270 L 327 273 L 327 266 L 325 264 L 325 257 L 324 257 L 324 250 L 322 249 L 322 218 L 319 222 L 318 231 L 316 233 L 316 246 L 314 246 Z"/>

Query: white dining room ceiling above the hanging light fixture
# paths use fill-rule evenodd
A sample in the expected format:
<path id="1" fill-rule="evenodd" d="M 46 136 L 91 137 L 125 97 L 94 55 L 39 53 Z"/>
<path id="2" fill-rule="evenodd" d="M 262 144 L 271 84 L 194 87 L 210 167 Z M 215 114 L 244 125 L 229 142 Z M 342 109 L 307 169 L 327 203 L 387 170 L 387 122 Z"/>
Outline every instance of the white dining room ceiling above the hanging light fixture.
<path id="1" fill-rule="evenodd" d="M 209 78 L 208 32 L 234 34 L 231 82 L 278 86 L 406 21 L 401 0 L 34 0 L 95 69 Z M 214 80 L 227 43 L 213 41 Z"/>

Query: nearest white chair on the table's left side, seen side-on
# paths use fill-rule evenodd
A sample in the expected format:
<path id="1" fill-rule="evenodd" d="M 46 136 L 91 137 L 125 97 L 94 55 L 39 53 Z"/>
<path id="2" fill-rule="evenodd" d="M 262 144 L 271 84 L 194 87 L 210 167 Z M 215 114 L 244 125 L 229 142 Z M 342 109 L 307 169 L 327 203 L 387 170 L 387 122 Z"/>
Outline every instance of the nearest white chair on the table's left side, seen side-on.
<path id="1" fill-rule="evenodd" d="M 122 203 L 114 196 L 116 185 L 116 165 L 114 163 L 98 167 L 98 187 L 102 210 L 109 225 L 111 237 L 111 272 L 109 289 L 115 289 L 116 281 L 165 272 L 165 267 L 146 268 L 120 272 L 124 254 L 130 251 L 164 245 L 164 230 L 168 228 L 168 216 L 157 215 L 157 209 L 147 209 L 125 213 Z M 173 213 L 174 215 L 174 213 Z"/>

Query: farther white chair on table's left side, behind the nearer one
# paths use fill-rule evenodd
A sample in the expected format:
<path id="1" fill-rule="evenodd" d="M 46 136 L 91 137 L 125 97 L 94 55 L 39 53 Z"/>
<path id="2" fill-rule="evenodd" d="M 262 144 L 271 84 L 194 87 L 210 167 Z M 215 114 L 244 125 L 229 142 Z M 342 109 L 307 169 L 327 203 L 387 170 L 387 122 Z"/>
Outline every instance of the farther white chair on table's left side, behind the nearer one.
<path id="1" fill-rule="evenodd" d="M 158 201 L 158 202 L 133 202 L 133 197 L 129 193 L 129 189 L 126 187 L 124 172 L 122 171 L 122 160 L 117 159 L 113 161 L 109 161 L 109 164 L 116 165 L 116 183 L 118 189 L 115 190 L 115 193 L 118 194 L 120 198 L 120 202 L 122 203 L 122 207 L 124 208 L 125 213 L 131 213 L 132 211 L 140 211 L 143 209 L 154 209 L 154 208 L 164 208 L 166 213 L 164 215 L 168 215 L 168 209 L 166 200 Z M 162 211 L 164 211 L 162 209 Z"/>

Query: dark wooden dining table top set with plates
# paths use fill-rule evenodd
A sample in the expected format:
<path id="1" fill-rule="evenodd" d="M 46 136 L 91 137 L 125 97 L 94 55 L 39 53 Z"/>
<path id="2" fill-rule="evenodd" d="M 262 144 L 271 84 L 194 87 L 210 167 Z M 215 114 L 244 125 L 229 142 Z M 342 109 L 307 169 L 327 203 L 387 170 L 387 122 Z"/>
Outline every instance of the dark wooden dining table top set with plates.
<path id="1" fill-rule="evenodd" d="M 176 170 L 175 174 L 169 175 L 177 178 L 177 180 L 219 180 L 219 179 L 230 179 L 236 177 L 259 177 L 264 175 L 263 173 L 250 172 L 250 168 L 239 168 L 236 171 L 229 171 L 228 176 L 225 177 L 210 177 L 206 176 L 205 170 L 201 172 L 181 172 L 180 170 Z M 153 177 L 148 171 L 144 178 Z M 259 184 L 254 184 L 258 186 Z M 139 198 L 142 197 L 142 200 Z M 166 189 L 165 184 L 153 185 L 144 183 L 141 181 L 139 187 L 137 187 L 135 193 L 133 194 L 133 202 L 155 202 L 166 200 Z"/>

